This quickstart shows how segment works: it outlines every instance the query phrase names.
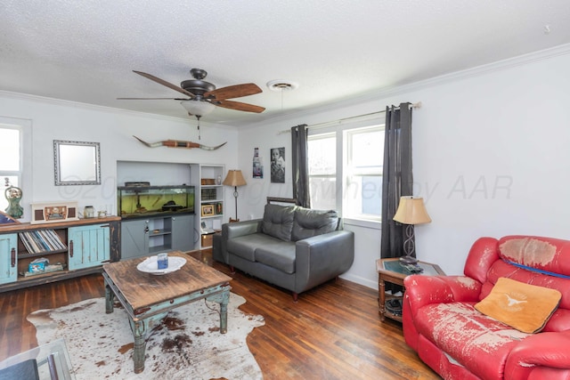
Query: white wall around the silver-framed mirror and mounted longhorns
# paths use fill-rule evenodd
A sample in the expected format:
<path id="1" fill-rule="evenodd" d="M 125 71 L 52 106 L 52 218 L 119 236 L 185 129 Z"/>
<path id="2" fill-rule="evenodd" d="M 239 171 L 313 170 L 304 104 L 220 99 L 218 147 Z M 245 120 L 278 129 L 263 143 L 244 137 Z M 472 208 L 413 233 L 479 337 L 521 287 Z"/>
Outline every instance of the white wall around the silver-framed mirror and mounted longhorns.
<path id="1" fill-rule="evenodd" d="M 196 120 L 191 118 L 159 117 L 118 109 L 106 109 L 69 101 L 56 101 L 13 93 L 0 93 L 0 117 L 31 120 L 33 183 L 23 188 L 24 218 L 29 221 L 30 202 L 77 200 L 79 210 L 93 205 L 105 206 L 116 214 L 117 162 L 144 161 L 153 163 L 204 163 L 225 164 L 237 157 L 237 131 L 233 127 L 200 123 L 201 140 L 198 139 Z M 144 141 L 167 139 L 200 142 L 208 146 L 227 144 L 219 150 L 148 148 L 136 141 L 136 135 Z M 55 186 L 53 180 L 53 140 L 91 141 L 101 143 L 102 185 Z M 123 174 L 125 175 L 125 174 Z M 184 175 L 180 182 L 169 183 L 151 180 L 151 184 L 182 184 L 188 182 Z M 133 178 L 134 179 L 134 178 Z M 140 178 L 139 181 L 149 180 Z M 189 183 L 188 183 L 189 184 Z M 226 192 L 227 195 L 227 192 Z M 226 201 L 232 201 L 231 194 Z"/>

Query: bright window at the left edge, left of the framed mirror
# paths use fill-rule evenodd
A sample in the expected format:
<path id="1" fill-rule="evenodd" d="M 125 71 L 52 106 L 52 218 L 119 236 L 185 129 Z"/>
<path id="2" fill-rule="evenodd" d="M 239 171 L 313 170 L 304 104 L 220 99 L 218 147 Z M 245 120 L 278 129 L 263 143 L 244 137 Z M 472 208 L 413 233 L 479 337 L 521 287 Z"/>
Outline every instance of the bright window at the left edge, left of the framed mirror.
<path id="1" fill-rule="evenodd" d="M 4 197 L 5 178 L 12 186 L 20 186 L 21 141 L 22 133 L 19 127 L 0 124 L 0 180 L 2 181 L 0 210 L 3 212 L 8 207 L 8 200 Z"/>

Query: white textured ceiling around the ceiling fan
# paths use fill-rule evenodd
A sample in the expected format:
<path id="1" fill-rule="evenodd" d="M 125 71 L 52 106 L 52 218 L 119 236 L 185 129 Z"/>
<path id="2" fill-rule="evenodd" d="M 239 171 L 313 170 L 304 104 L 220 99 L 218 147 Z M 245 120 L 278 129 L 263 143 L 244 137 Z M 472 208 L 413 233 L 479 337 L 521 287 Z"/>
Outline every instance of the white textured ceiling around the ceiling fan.
<path id="1" fill-rule="evenodd" d="M 175 85 L 206 69 L 262 114 L 216 108 L 246 125 L 570 43 L 568 0 L 3 0 L 0 90 L 173 117 Z M 548 26 L 550 33 L 545 32 Z M 297 90 L 273 92 L 274 79 Z"/>

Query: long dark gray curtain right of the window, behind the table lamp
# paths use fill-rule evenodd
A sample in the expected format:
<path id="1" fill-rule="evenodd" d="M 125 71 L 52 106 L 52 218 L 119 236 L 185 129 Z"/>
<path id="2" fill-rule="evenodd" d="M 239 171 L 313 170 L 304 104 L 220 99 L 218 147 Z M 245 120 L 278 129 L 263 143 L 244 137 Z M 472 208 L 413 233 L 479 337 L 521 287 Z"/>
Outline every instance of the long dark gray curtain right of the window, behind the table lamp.
<path id="1" fill-rule="evenodd" d="M 405 226 L 395 222 L 400 196 L 412 195 L 411 103 L 386 108 L 380 257 L 403 255 Z M 415 255 L 415 254 L 414 254 Z"/>

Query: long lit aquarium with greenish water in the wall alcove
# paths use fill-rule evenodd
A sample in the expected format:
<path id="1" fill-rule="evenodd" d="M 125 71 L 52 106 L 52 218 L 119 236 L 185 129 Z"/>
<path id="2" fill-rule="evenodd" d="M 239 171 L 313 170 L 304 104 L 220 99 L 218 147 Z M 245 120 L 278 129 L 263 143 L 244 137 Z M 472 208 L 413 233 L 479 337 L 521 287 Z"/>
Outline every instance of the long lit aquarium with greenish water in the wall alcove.
<path id="1" fill-rule="evenodd" d="M 123 218 L 151 214 L 193 213 L 194 186 L 136 184 L 117 188 L 118 215 Z"/>

